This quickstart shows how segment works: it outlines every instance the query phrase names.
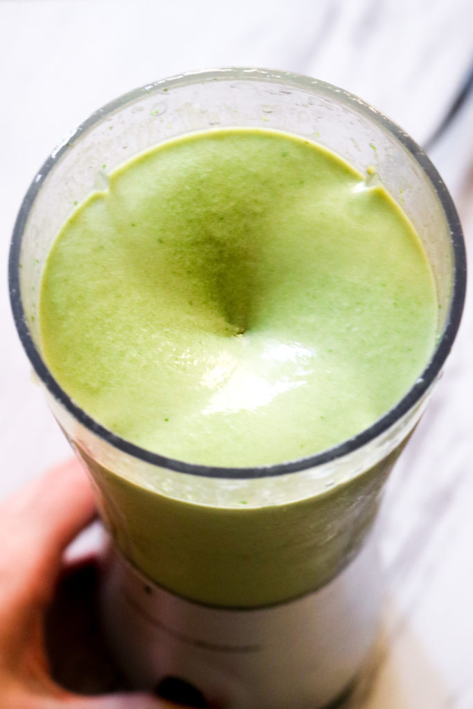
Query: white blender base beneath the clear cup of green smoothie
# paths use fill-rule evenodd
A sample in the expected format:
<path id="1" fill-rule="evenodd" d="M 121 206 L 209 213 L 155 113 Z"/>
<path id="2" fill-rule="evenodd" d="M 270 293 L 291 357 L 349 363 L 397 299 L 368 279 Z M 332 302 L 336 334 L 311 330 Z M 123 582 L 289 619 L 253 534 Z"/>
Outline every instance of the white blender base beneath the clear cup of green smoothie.
<path id="1" fill-rule="evenodd" d="M 194 707 L 322 709 L 374 643 L 381 603 L 373 537 L 329 584 L 267 608 L 214 608 L 160 588 L 110 548 L 101 615 L 137 688 Z"/>

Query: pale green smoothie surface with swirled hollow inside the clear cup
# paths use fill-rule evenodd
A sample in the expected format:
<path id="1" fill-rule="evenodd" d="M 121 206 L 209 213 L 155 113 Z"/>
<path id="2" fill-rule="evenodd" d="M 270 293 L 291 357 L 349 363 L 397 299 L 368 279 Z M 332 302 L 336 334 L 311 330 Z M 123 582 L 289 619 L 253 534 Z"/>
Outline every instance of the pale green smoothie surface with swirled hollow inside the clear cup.
<path id="1" fill-rule="evenodd" d="M 421 242 L 382 186 L 286 133 L 162 143 L 65 223 L 45 361 L 116 434 L 199 464 L 304 457 L 374 423 L 435 346 Z"/>

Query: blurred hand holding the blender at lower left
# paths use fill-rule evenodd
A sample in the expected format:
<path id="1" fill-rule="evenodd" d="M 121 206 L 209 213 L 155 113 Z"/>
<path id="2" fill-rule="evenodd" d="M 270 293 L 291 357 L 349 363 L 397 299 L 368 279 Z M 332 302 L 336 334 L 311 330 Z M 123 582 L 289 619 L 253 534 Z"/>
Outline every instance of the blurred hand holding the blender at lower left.
<path id="1" fill-rule="evenodd" d="M 94 515 L 89 483 L 74 461 L 0 506 L 1 709 L 177 709 L 146 693 L 81 696 L 52 679 L 45 618 L 65 548 Z"/>

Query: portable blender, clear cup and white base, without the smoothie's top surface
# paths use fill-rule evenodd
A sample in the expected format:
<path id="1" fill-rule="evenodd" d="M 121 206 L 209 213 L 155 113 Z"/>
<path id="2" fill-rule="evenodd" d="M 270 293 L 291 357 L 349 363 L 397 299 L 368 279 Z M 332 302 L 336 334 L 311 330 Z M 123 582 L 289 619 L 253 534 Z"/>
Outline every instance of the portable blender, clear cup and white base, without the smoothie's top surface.
<path id="1" fill-rule="evenodd" d="M 330 450 L 240 469 L 169 459 L 92 420 L 48 371 L 38 326 L 48 251 L 74 201 L 106 189 L 102 166 L 226 126 L 302 136 L 343 157 L 367 185 L 379 179 L 418 231 L 441 306 L 430 362 L 376 423 Z M 101 610 L 131 681 L 225 709 L 317 709 L 343 696 L 377 630 L 373 525 L 384 483 L 450 351 L 464 299 L 460 223 L 422 150 L 374 108 L 309 77 L 215 69 L 164 79 L 101 108 L 52 152 L 21 206 L 9 278 L 23 346 L 110 534 Z"/>

